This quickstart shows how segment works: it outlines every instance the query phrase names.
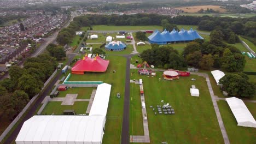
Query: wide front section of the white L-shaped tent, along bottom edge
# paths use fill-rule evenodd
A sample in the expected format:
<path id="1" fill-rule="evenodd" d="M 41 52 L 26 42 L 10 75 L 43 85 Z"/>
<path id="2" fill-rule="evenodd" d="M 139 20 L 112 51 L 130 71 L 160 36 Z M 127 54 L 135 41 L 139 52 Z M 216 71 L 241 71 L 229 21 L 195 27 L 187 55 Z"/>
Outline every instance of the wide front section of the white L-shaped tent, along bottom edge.
<path id="1" fill-rule="evenodd" d="M 101 143 L 105 116 L 33 116 L 20 130 L 16 143 Z"/>

